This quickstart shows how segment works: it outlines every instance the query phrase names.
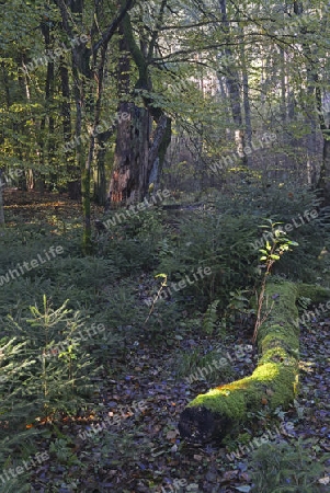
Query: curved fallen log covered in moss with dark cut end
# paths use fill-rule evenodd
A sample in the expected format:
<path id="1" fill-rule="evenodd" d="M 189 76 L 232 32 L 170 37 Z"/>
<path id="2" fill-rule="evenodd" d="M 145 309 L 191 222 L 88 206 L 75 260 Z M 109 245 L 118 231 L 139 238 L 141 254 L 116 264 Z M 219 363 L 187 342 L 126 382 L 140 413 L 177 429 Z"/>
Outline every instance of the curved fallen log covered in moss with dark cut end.
<path id="1" fill-rule="evenodd" d="M 330 291 L 318 286 L 270 283 L 265 298 L 271 313 L 260 326 L 260 360 L 249 377 L 209 390 L 187 404 L 180 417 L 182 437 L 223 439 L 234 426 L 247 420 L 248 412 L 268 405 L 275 410 L 293 402 L 298 383 L 299 323 L 298 296 L 319 302 L 330 299 Z M 266 310 L 266 308 L 264 308 Z"/>

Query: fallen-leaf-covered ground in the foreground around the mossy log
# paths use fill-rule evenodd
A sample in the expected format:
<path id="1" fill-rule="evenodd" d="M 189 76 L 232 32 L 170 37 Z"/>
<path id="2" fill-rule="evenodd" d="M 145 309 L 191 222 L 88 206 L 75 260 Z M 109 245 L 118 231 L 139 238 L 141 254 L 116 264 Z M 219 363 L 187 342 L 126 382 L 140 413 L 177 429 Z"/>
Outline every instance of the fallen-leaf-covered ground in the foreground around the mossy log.
<path id="1" fill-rule="evenodd" d="M 183 443 L 178 432 L 180 413 L 185 404 L 210 387 L 205 380 L 190 385 L 178 378 L 178 356 L 196 345 L 209 348 L 217 341 L 201 341 L 192 335 L 187 341 L 170 341 L 170 344 L 155 348 L 148 341 L 128 342 L 126 357 L 112 362 L 112 378 L 104 376 L 100 382 L 100 394 L 95 395 L 94 404 L 104 411 L 91 420 L 76 419 L 58 424 L 72 447 L 77 463 L 71 457 L 71 466 L 66 460 L 45 465 L 35 477 L 35 491 L 69 493 L 76 491 L 76 488 L 71 490 L 76 483 L 79 492 L 249 492 L 252 489 L 249 458 L 257 448 L 252 440 L 260 436 L 292 445 L 300 438 L 303 446 L 309 448 L 312 460 L 319 460 L 330 451 L 329 328 L 330 319 L 326 319 L 301 329 L 301 387 L 295 406 L 283 413 L 281 427 L 266 410 L 253 424 L 248 424 L 244 432 L 250 435 L 250 440 L 240 448 L 239 445 L 234 447 L 241 456 L 234 461 L 224 446 Z M 249 339 L 238 337 L 237 341 L 250 344 Z M 231 355 L 236 378 L 251 374 L 254 358 L 241 357 L 232 346 L 228 344 L 224 352 Z M 220 375 L 217 385 L 226 381 Z M 139 413 L 133 403 L 141 401 L 146 409 Z M 113 426 L 107 423 L 106 429 L 92 433 L 90 438 L 79 437 L 79 433 L 91 431 L 107 415 L 120 415 L 120 422 Z M 47 442 L 44 447 L 47 450 Z M 181 483 L 184 488 L 179 488 L 180 480 L 184 481 Z M 328 475 L 320 481 L 325 486 L 320 483 L 319 490 L 315 491 L 329 491 L 330 463 Z M 54 490 L 49 490 L 49 485 Z"/>

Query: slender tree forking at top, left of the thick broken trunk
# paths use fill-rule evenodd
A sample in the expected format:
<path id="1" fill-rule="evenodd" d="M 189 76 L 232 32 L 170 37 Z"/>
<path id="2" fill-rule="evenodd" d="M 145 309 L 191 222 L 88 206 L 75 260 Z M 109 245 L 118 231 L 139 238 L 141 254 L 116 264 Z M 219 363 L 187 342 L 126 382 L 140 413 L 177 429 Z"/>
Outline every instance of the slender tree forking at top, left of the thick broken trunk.
<path id="1" fill-rule="evenodd" d="M 57 4 L 62 27 L 69 38 L 73 38 L 75 23 L 82 27 L 83 1 L 76 2 L 65 0 L 55 0 Z M 81 192 L 83 209 L 83 249 L 86 253 L 91 252 L 91 169 L 94 158 L 96 129 L 101 119 L 101 104 L 103 94 L 103 79 L 106 60 L 106 50 L 111 38 L 117 31 L 117 27 L 124 19 L 126 12 L 133 7 L 134 0 L 125 0 L 121 9 L 115 13 L 111 23 L 104 28 L 101 35 L 98 32 L 96 20 L 100 15 L 100 3 L 95 5 L 95 11 L 90 16 L 91 47 L 87 43 L 80 43 L 72 48 L 71 70 L 73 77 L 73 94 L 76 103 L 76 131 L 75 138 L 77 145 L 77 164 L 81 170 Z M 72 16 L 69 15 L 71 11 Z M 96 91 L 93 94 L 93 80 L 96 80 Z M 88 152 L 84 154 L 82 145 L 82 119 L 83 110 L 90 119 L 90 137 L 88 142 Z"/>

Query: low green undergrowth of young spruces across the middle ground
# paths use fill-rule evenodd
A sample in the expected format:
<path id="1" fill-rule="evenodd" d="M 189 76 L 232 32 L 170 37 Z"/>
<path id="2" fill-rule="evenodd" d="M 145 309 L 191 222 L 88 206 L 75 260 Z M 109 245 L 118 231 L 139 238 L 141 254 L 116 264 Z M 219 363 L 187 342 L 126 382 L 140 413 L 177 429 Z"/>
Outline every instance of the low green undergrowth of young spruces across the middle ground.
<path id="1" fill-rule="evenodd" d="M 0 276 L 52 246 L 61 245 L 64 252 L 0 286 L 1 469 L 23 460 L 27 450 L 37 450 L 42 423 L 48 420 L 54 431 L 58 416 L 92 410 L 98 379 L 115 374 L 113 360 L 121 355 L 125 360 L 133 340 L 170 345 L 171 339 L 191 333 L 220 340 L 232 331 L 237 317 L 252 316 L 249 298 L 262 278 L 253 243 L 260 240 L 263 218 L 286 223 L 317 208 L 317 219 L 291 232 L 299 248 L 278 263 L 276 273 L 308 282 L 320 271 L 327 274 L 328 256 L 320 257 L 320 252 L 328 248 L 330 220 L 316 194 L 301 191 L 291 196 L 282 188 L 265 196 L 252 190 L 246 195 L 215 198 L 174 223 L 158 208 L 127 217 L 95 233 L 94 255 L 86 257 L 77 218 L 49 225 L 16 217 L 4 230 Z M 212 274 L 195 279 L 198 267 L 208 267 Z M 157 301 L 148 318 L 145 300 L 152 299 L 152 289 L 157 291 L 155 276 L 160 273 L 169 283 L 186 276 L 194 282 Z M 93 324 L 103 324 L 104 331 L 77 340 L 77 332 Z M 68 344 L 59 352 L 64 341 Z M 185 377 L 203 366 L 214 368 L 212 358 L 198 349 L 181 355 L 178 374 Z M 228 368 L 223 371 L 230 378 Z M 209 370 L 209 378 L 217 372 L 216 367 Z M 66 458 L 67 445 L 60 439 L 52 450 Z M 255 481 L 263 491 L 262 478 Z M 8 491 L 18 493 L 19 484 L 29 491 L 23 483 L 12 479 Z"/>

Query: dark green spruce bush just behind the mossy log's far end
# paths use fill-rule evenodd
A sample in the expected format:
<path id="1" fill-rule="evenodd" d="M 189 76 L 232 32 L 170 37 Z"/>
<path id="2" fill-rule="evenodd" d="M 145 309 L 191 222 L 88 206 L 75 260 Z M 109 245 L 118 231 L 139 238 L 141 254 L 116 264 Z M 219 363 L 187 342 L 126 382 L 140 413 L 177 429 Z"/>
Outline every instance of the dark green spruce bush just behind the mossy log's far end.
<path id="1" fill-rule="evenodd" d="M 257 257 L 249 243 L 255 237 L 257 220 L 249 216 L 232 216 L 219 210 L 196 211 L 179 221 L 180 236 L 172 239 L 171 249 L 162 255 L 159 268 L 170 280 L 192 276 L 198 266 L 212 274 L 194 282 L 177 295 L 178 299 L 201 309 L 219 300 L 219 309 L 229 302 L 229 290 L 254 284 Z"/>

